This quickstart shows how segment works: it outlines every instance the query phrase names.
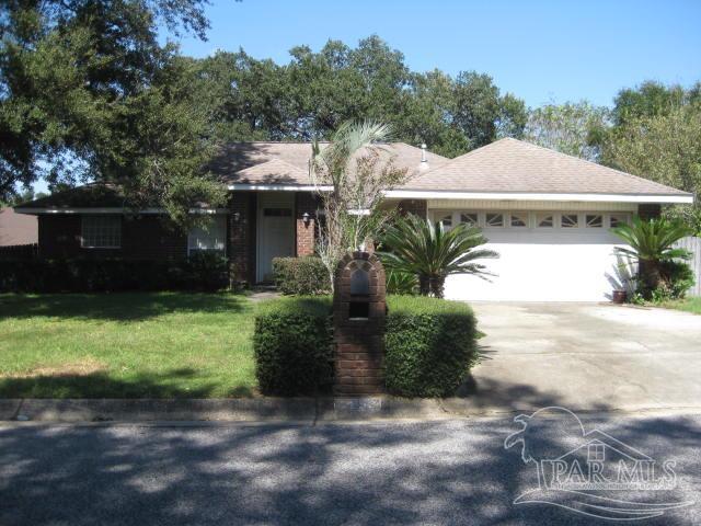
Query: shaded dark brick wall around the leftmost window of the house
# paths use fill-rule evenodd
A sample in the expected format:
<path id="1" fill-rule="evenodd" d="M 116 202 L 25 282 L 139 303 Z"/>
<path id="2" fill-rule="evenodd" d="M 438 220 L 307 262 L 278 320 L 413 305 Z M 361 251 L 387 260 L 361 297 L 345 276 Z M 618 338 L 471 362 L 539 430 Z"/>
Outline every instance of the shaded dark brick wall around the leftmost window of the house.
<path id="1" fill-rule="evenodd" d="M 166 260 L 187 255 L 187 236 L 169 227 L 162 216 L 120 216 L 120 218 L 122 248 L 84 249 L 80 245 L 80 215 L 39 216 L 39 256 Z"/>

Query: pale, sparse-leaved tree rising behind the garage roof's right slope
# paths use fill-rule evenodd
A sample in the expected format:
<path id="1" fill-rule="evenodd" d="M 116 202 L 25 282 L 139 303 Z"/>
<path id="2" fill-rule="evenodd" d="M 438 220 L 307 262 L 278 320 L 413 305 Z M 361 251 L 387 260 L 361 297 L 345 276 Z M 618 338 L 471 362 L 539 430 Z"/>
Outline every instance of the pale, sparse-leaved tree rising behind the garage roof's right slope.
<path id="1" fill-rule="evenodd" d="M 545 104 L 531 110 L 524 139 L 589 161 L 599 158 L 599 137 L 608 124 L 609 111 L 587 101 Z"/>

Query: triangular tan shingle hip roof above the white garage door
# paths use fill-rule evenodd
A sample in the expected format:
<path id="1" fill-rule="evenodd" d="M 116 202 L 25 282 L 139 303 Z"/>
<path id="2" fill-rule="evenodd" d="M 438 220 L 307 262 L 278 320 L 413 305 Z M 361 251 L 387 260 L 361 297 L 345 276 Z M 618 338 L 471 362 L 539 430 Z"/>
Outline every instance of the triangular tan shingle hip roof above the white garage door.
<path id="1" fill-rule="evenodd" d="M 405 190 L 547 194 L 690 195 L 516 139 L 501 139 L 409 181 Z"/>

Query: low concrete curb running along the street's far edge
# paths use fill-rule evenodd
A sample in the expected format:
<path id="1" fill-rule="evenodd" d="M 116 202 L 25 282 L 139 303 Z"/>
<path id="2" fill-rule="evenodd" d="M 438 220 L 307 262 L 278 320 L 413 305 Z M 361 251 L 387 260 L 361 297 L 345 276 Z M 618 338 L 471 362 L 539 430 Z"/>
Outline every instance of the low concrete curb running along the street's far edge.
<path id="1" fill-rule="evenodd" d="M 484 405 L 474 398 L 406 399 L 391 396 L 239 399 L 0 399 L 0 422 L 359 422 L 504 418 L 539 407 Z M 699 413 L 701 407 L 568 408 L 582 414 Z"/>

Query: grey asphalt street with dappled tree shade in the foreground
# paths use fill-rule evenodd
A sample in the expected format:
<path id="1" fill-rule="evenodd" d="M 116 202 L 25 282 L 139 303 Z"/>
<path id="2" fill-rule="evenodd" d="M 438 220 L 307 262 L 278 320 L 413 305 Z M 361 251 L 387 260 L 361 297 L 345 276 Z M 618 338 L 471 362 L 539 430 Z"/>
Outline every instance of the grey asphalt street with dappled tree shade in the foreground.
<path id="1" fill-rule="evenodd" d="M 701 502 L 701 416 L 583 416 Z M 512 418 L 441 422 L 0 426 L 0 524 L 599 524 L 543 504 Z M 565 438 L 552 433 L 549 447 Z M 647 492 L 659 502 L 660 496 Z M 700 504 L 640 524 L 699 524 Z M 608 523 L 612 524 L 612 523 Z"/>

